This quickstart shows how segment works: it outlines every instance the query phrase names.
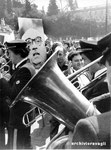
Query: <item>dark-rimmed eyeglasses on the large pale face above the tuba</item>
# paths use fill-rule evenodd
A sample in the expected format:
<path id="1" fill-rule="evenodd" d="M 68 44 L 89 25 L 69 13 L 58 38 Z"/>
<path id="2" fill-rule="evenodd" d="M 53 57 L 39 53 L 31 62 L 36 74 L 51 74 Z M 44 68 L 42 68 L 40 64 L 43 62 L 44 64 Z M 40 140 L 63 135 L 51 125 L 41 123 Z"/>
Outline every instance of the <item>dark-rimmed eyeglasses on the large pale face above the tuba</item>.
<path id="1" fill-rule="evenodd" d="M 35 42 L 39 46 L 42 44 L 42 38 L 40 36 L 37 36 L 35 39 L 28 38 L 25 41 L 28 45 L 32 45 L 33 42 Z"/>

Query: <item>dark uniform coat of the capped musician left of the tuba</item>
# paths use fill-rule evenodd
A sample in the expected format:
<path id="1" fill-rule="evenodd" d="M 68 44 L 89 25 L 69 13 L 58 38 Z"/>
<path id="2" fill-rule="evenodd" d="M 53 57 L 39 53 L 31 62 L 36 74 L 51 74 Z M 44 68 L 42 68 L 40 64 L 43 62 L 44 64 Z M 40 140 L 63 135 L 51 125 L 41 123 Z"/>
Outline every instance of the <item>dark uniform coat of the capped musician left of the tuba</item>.
<path id="1" fill-rule="evenodd" d="M 27 62 L 27 60 L 22 62 L 16 68 L 9 82 L 7 82 L 5 79 L 0 80 L 0 98 L 3 99 L 6 97 L 6 99 L 8 98 L 8 102 L 12 103 L 34 73 L 35 69 L 30 63 Z M 9 125 L 15 128 L 24 128 L 25 126 L 22 123 L 22 117 L 29 109 L 29 104 L 22 101 L 17 102 L 15 106 L 10 109 Z"/>

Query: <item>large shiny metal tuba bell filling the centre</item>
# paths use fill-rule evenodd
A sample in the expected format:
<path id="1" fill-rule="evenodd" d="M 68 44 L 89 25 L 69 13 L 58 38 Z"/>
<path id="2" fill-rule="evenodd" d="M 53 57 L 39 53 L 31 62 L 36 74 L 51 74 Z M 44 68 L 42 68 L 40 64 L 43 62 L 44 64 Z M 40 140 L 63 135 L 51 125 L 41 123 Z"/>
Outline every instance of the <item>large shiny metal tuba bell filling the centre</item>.
<path id="1" fill-rule="evenodd" d="M 73 130 L 79 119 L 100 112 L 66 78 L 56 60 L 57 52 L 24 86 L 10 107 L 19 100 L 35 105 Z"/>

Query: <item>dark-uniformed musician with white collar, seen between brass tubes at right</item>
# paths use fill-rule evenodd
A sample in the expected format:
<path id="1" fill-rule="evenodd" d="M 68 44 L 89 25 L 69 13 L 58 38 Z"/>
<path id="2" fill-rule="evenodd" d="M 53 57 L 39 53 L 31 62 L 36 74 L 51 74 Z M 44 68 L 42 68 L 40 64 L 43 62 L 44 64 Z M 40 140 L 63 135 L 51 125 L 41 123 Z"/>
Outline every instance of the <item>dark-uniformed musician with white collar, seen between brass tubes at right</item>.
<path id="1" fill-rule="evenodd" d="M 84 58 L 86 64 L 90 64 L 91 61 L 96 61 L 96 59 L 100 57 L 100 54 L 98 54 L 98 51 L 97 51 L 97 56 L 96 56 L 96 51 L 97 51 L 97 48 L 94 48 L 90 50 L 88 53 L 82 54 L 82 57 Z M 89 67 L 89 72 L 91 74 L 91 82 L 86 88 L 82 90 L 82 94 L 88 100 L 91 100 L 95 97 L 104 95 L 109 92 L 107 79 L 106 79 L 106 70 L 107 68 L 105 67 L 105 65 L 101 64 L 99 61 L 96 61 L 93 65 Z M 94 100 L 93 104 L 101 113 L 104 113 L 110 110 L 110 98 L 109 97 L 104 98 L 102 100 Z"/>

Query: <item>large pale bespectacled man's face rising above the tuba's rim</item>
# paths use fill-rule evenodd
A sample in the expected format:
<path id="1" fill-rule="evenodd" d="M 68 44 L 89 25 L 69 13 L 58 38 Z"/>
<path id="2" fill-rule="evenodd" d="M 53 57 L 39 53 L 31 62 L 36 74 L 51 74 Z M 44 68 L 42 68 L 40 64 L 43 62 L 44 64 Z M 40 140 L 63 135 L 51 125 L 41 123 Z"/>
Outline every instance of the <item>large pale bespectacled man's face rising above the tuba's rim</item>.
<path id="1" fill-rule="evenodd" d="M 47 59 L 45 34 L 38 32 L 37 29 L 30 28 L 24 33 L 22 39 L 28 43 L 29 59 L 37 71 Z"/>

